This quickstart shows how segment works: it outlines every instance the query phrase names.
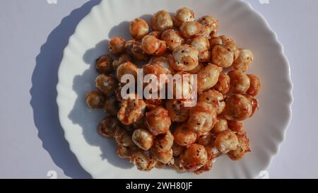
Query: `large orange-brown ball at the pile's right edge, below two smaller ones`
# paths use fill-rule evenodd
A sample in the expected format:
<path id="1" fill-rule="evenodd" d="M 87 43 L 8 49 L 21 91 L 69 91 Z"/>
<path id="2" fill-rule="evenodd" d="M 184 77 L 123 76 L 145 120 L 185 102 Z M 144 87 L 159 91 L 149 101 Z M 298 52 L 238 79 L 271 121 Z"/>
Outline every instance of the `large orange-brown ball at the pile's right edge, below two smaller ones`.
<path id="1" fill-rule="evenodd" d="M 224 115 L 232 121 L 245 120 L 252 115 L 252 103 L 244 95 L 230 95 L 225 101 Z"/>

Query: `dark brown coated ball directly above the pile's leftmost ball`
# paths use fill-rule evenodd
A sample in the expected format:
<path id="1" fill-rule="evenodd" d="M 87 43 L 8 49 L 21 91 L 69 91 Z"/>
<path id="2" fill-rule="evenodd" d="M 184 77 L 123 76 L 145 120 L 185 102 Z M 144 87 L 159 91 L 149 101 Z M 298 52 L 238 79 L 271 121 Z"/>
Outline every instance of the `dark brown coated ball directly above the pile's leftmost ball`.
<path id="1" fill-rule="evenodd" d="M 107 76 L 105 74 L 100 74 L 95 80 L 96 88 L 100 90 L 107 96 L 114 94 L 114 88 L 116 86 L 116 81 L 112 76 Z"/>

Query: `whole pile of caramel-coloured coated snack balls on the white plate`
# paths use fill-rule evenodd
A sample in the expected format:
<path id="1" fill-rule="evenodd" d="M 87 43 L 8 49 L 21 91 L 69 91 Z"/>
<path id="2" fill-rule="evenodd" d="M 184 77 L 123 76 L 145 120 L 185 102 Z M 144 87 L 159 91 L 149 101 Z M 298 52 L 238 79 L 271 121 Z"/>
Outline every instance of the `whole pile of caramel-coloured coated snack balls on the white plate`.
<path id="1" fill-rule="evenodd" d="M 245 156 L 250 149 L 242 121 L 258 109 L 254 97 L 260 90 L 259 78 L 246 73 L 252 52 L 218 36 L 216 18 L 196 20 L 189 8 L 173 16 L 158 11 L 150 24 L 142 18 L 131 21 L 133 39 L 112 38 L 109 52 L 114 58 L 105 54 L 96 60 L 98 91 L 90 91 L 86 103 L 106 112 L 100 134 L 114 138 L 119 157 L 139 170 L 170 167 L 200 174 L 211 170 L 221 154 L 232 160 Z M 187 97 L 122 99 L 120 80 L 124 74 L 136 78 L 139 61 L 147 63 L 143 76 L 196 74 L 196 106 L 186 107 Z"/>

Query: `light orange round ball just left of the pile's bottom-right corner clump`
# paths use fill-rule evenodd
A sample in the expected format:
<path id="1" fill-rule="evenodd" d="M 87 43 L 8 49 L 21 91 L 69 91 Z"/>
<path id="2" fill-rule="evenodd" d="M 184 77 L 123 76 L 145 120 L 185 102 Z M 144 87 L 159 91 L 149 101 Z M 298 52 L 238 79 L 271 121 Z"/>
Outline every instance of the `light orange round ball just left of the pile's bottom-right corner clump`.
<path id="1" fill-rule="evenodd" d="M 216 148 L 221 153 L 228 153 L 229 151 L 235 150 L 239 145 L 239 141 L 235 133 L 231 130 L 225 130 L 220 132 L 216 136 Z"/>

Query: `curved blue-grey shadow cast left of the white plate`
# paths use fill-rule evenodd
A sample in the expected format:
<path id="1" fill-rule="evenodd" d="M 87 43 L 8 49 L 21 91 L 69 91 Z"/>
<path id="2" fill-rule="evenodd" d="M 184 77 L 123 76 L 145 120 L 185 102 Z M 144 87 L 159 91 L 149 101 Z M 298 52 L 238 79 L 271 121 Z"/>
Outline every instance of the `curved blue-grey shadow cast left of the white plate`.
<path id="1" fill-rule="evenodd" d="M 30 88 L 30 105 L 33 108 L 35 126 L 42 146 L 49 153 L 54 163 L 72 178 L 90 178 L 81 168 L 78 160 L 69 149 L 64 138 L 57 107 L 57 71 L 63 57 L 63 51 L 74 33 L 76 25 L 90 12 L 93 6 L 101 0 L 88 1 L 80 8 L 73 10 L 69 16 L 52 30 L 47 41 L 42 45 L 40 54 L 36 57 L 36 65 Z"/>

